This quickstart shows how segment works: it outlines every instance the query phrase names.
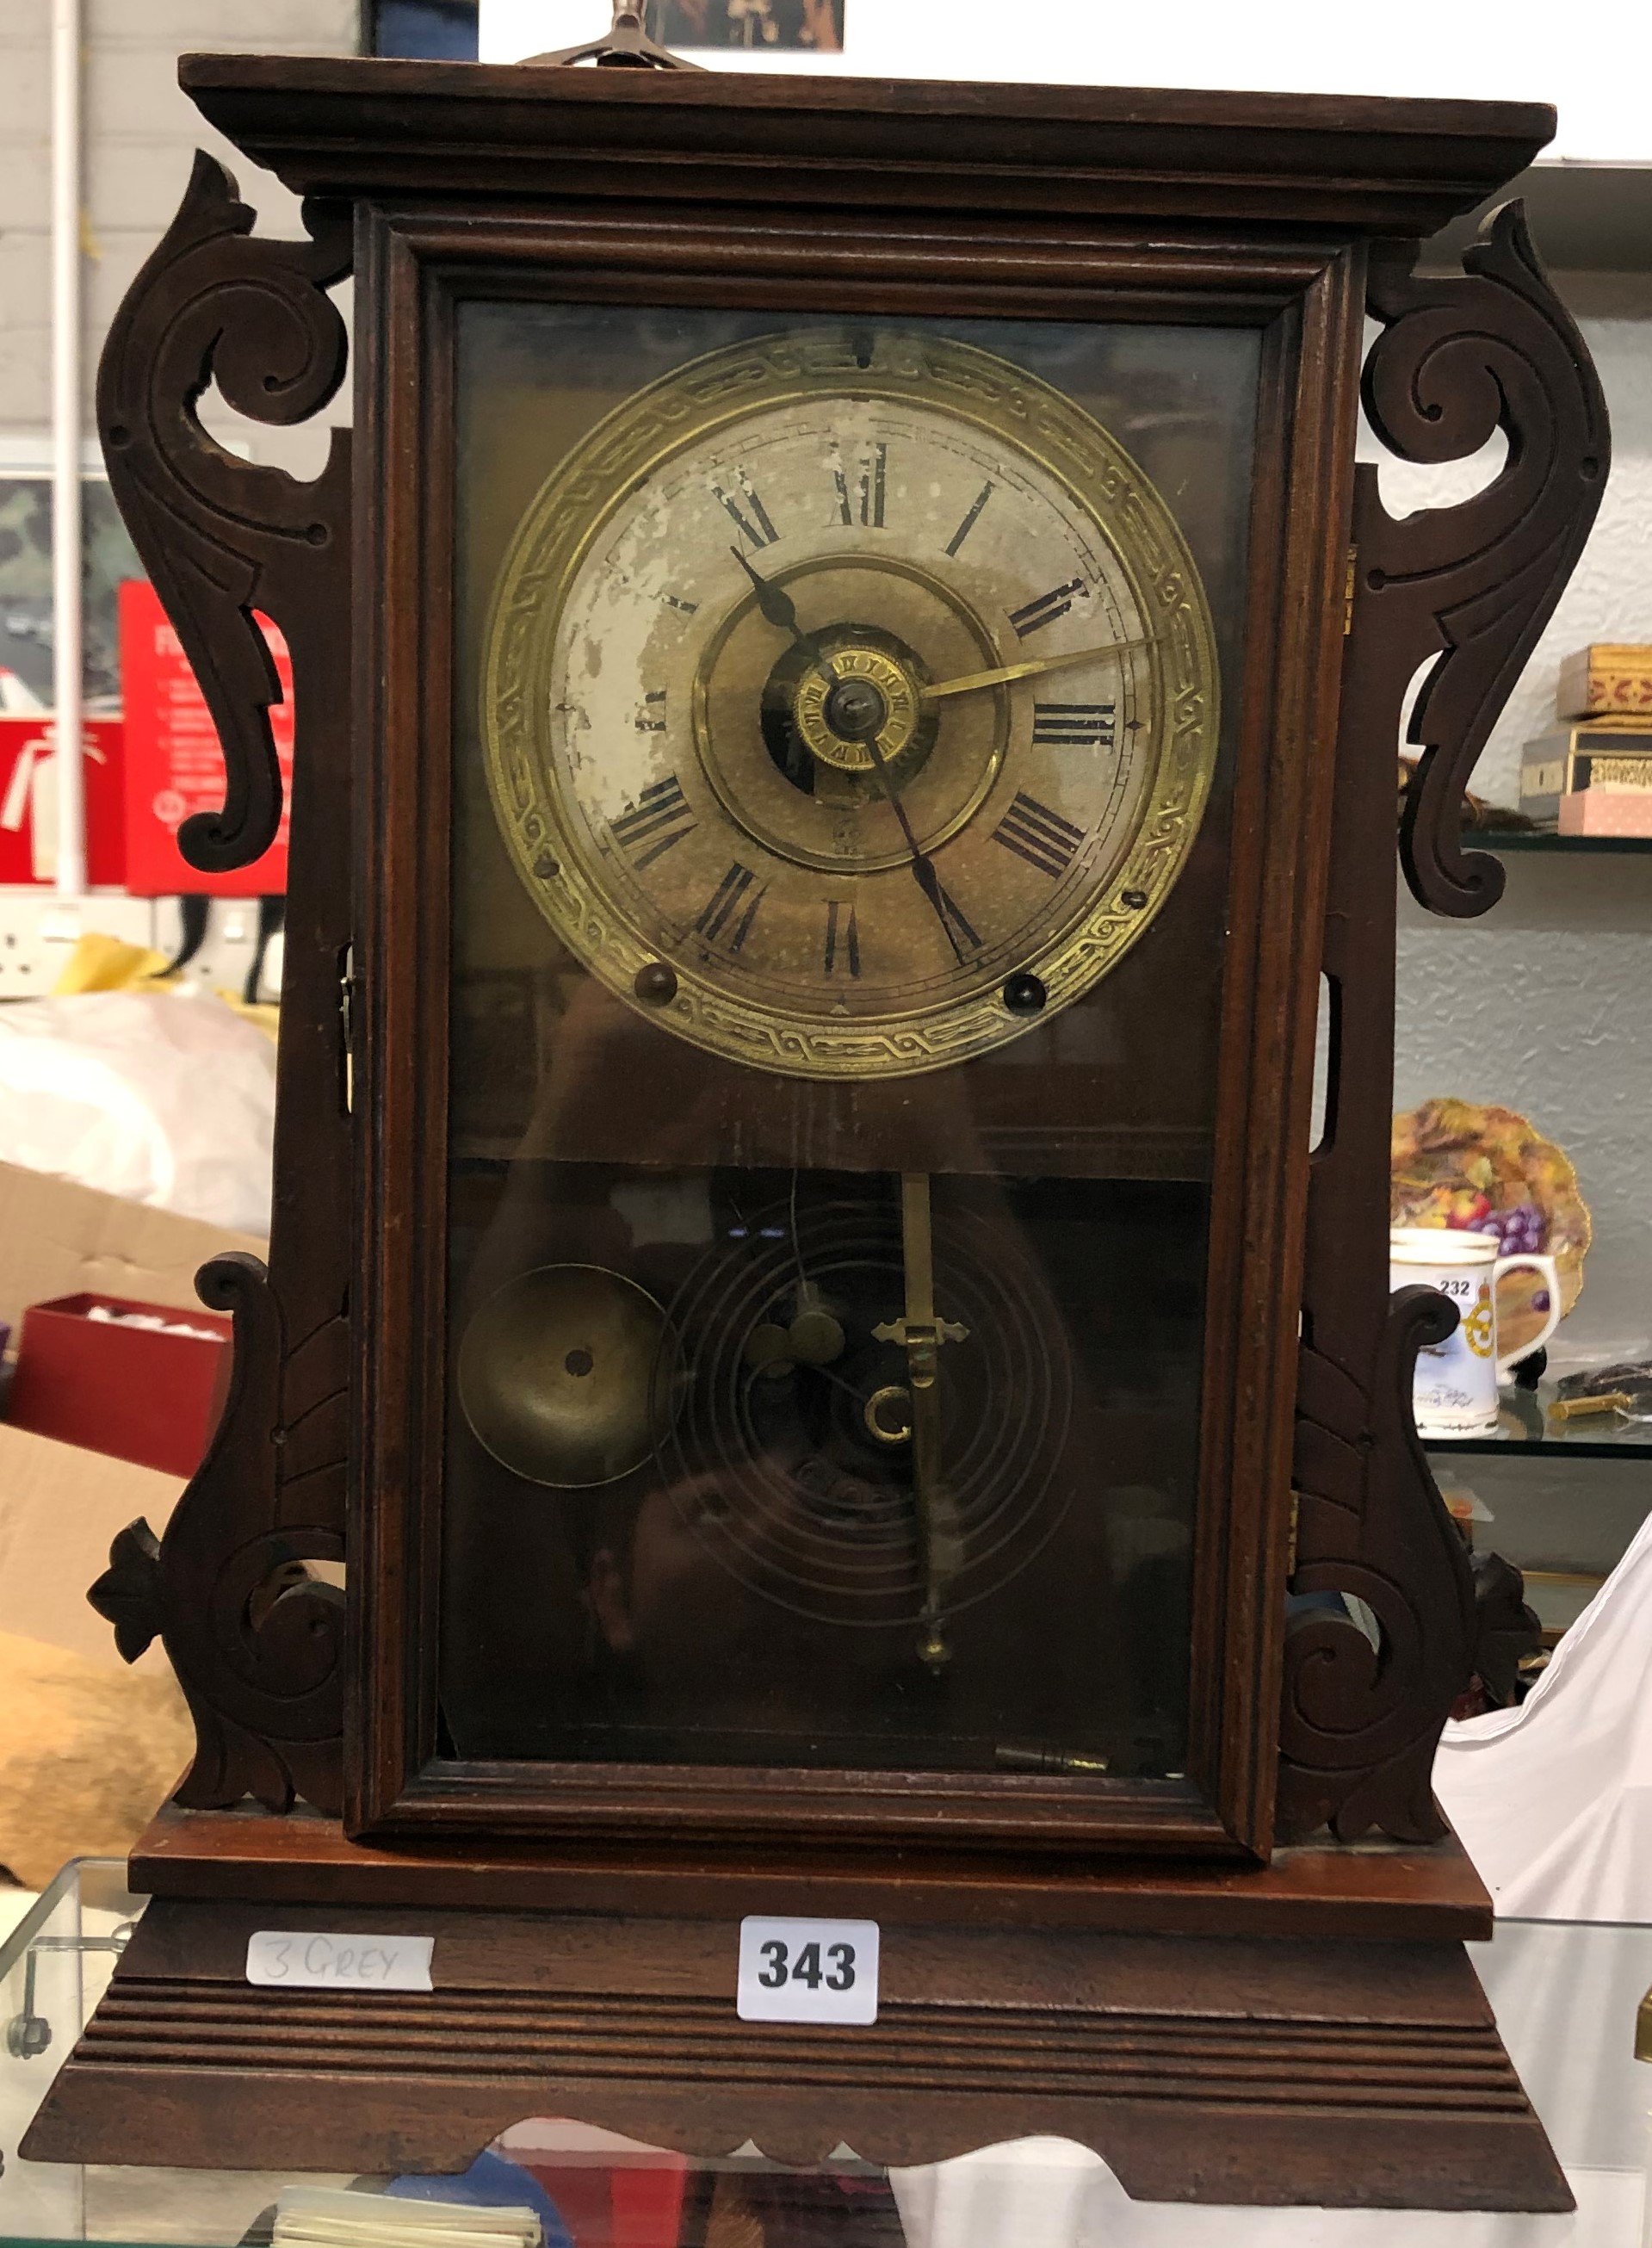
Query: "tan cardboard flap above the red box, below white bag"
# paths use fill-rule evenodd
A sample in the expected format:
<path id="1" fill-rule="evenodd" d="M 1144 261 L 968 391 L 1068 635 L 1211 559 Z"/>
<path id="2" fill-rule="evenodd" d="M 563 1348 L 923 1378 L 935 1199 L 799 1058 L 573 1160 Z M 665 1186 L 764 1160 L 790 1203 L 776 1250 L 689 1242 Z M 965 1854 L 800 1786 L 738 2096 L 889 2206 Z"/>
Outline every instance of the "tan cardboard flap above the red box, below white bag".
<path id="1" fill-rule="evenodd" d="M 0 1320 L 13 1333 L 29 1304 L 58 1295 L 130 1295 L 200 1311 L 196 1272 L 225 1250 L 263 1257 L 267 1243 L 0 1162 Z"/>

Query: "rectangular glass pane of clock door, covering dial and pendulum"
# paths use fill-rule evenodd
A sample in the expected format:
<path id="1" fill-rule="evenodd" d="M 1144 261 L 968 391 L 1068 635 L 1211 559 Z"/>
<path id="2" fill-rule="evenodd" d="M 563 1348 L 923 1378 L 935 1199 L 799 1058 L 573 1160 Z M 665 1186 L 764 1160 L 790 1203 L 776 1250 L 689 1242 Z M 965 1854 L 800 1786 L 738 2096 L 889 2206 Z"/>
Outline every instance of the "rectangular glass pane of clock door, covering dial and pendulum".
<path id="1" fill-rule="evenodd" d="M 454 337 L 443 1753 L 1178 1778 L 1259 330 Z"/>

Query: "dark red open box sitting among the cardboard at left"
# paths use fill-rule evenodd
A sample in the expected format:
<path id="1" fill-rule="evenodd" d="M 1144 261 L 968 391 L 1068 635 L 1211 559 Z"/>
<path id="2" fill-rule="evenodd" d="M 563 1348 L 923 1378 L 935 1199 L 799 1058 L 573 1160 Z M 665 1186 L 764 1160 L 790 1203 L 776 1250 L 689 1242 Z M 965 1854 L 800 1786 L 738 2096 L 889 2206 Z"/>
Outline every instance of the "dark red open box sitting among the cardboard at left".
<path id="1" fill-rule="evenodd" d="M 121 1320 L 90 1320 L 94 1304 L 137 1311 L 205 1333 L 166 1335 Z M 232 1322 L 119 1295 L 61 1295 L 22 1313 L 7 1418 L 13 1427 L 139 1468 L 193 1475 L 229 1389 Z"/>

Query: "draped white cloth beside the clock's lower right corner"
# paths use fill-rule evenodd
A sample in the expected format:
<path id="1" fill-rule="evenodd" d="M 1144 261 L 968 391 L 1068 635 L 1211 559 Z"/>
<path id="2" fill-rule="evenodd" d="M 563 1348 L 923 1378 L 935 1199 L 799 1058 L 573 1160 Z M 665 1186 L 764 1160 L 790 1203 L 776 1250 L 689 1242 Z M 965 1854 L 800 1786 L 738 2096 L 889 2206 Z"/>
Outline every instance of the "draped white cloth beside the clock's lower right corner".
<path id="1" fill-rule="evenodd" d="M 1519 1708 L 1447 1724 L 1434 1794 L 1510 1920 L 1652 1920 L 1652 1517 Z"/>

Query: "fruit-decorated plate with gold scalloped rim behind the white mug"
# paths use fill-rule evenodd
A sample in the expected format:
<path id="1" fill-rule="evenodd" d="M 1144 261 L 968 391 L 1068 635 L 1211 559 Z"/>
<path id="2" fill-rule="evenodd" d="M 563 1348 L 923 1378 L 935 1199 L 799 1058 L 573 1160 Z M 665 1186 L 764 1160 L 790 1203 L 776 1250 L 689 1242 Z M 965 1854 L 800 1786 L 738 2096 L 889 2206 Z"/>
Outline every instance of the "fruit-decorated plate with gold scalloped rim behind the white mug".
<path id="1" fill-rule="evenodd" d="M 1513 1108 L 1423 1102 L 1394 1120 L 1389 1216 L 1394 1225 L 1445 1225 L 1497 1234 L 1504 1257 L 1555 1259 L 1560 1315 L 1582 1295 L 1589 1207 L 1564 1149 Z M 1542 1333 L 1549 1295 L 1537 1272 L 1497 1284 L 1497 1351 L 1517 1353 Z"/>

